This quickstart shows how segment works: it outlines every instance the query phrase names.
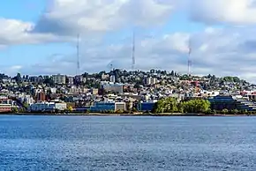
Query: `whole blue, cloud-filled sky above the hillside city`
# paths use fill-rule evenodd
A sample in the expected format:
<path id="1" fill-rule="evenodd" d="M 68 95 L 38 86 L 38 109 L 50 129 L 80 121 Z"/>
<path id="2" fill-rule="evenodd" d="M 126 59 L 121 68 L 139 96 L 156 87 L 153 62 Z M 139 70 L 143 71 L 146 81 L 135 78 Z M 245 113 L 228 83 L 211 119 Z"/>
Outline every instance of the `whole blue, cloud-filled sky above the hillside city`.
<path id="1" fill-rule="evenodd" d="M 0 72 L 132 69 L 256 78 L 256 0 L 8 0 L 0 5 Z"/>

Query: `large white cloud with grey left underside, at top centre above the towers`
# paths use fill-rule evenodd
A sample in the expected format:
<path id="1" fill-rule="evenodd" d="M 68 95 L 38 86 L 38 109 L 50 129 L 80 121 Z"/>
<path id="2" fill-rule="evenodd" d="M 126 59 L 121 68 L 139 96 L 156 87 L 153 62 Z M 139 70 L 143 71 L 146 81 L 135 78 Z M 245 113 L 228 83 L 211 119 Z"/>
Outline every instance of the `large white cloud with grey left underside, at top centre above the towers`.
<path id="1" fill-rule="evenodd" d="M 157 0 L 53 0 L 34 32 L 77 34 L 124 26 L 153 26 L 169 19 L 173 4 Z"/>

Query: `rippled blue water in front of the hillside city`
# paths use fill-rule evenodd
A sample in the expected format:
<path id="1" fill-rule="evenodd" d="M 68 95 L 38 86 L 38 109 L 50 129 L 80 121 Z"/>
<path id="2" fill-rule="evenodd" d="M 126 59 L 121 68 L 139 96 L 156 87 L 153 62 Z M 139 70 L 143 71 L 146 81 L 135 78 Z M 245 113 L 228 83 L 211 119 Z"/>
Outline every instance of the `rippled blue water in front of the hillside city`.
<path id="1" fill-rule="evenodd" d="M 256 117 L 0 116 L 0 170 L 256 170 Z"/>

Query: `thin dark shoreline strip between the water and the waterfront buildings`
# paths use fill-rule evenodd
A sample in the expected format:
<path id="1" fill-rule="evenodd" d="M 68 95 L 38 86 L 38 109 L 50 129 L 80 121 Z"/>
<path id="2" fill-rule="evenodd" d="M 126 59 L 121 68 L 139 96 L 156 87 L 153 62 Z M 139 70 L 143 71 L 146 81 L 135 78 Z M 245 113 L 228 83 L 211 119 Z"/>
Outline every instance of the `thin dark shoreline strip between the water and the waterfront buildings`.
<path id="1" fill-rule="evenodd" d="M 222 115 L 222 114 L 215 114 L 215 115 L 204 115 L 204 114 L 101 114 L 101 113 L 68 113 L 68 114 L 33 114 L 33 113 L 0 113 L 0 115 L 53 115 L 53 116 L 64 116 L 64 115 L 79 115 L 79 116 L 256 116 L 256 115 L 247 115 L 247 114 L 238 114 L 238 115 Z"/>

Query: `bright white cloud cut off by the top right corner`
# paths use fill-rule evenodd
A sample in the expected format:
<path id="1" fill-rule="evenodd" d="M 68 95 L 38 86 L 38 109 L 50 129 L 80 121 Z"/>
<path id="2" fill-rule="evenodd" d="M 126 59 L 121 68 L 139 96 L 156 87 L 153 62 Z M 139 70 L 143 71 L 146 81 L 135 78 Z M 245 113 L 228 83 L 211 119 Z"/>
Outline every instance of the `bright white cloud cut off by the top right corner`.
<path id="1" fill-rule="evenodd" d="M 255 0 L 192 0 L 189 5 L 191 18 L 207 24 L 256 23 Z"/>

